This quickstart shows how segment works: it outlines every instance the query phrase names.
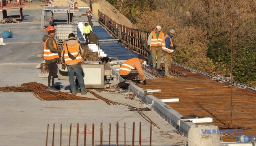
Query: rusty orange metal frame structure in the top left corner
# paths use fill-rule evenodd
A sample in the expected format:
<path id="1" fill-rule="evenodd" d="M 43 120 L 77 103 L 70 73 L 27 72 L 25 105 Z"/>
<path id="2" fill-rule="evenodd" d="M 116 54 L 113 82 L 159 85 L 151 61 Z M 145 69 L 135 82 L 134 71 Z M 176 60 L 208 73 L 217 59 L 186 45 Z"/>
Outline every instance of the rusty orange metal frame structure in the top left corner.
<path id="1" fill-rule="evenodd" d="M 0 0 L 0 10 L 2 11 L 2 21 L 3 23 L 13 23 L 16 22 L 17 19 L 23 20 L 22 8 L 25 7 L 26 0 Z M 20 15 L 7 15 L 7 11 L 9 10 L 20 10 Z M 8 21 L 6 21 L 8 19 Z"/>

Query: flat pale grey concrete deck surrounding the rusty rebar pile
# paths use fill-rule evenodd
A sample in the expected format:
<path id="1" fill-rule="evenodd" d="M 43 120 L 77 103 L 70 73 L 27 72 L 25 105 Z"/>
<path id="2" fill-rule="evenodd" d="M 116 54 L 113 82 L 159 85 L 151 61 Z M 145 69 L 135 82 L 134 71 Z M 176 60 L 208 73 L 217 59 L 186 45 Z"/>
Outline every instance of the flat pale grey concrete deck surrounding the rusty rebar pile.
<path id="1" fill-rule="evenodd" d="M 45 30 L 41 29 L 41 10 L 24 10 L 26 20 L 16 24 L 0 24 L 0 32 L 11 29 L 13 38 L 4 39 L 6 46 L 0 46 L 0 87 L 20 86 L 27 82 L 48 84 L 47 79 L 39 78 L 40 69 L 36 66 L 43 61 L 37 58 Z M 46 22 L 47 23 L 47 22 Z M 96 23 L 96 22 L 94 22 Z M 123 47 L 123 46 L 122 46 Z M 129 56 L 130 58 L 130 56 Z M 111 86 L 117 81 L 111 81 Z M 55 78 L 55 85 L 61 86 L 62 92 L 70 92 L 68 80 Z M 113 87 L 108 90 L 115 90 Z M 97 92 L 95 90 L 92 90 Z M 135 97 L 126 99 L 124 93 L 100 93 L 100 96 L 134 107 L 144 107 Z M 81 97 L 96 99 L 92 94 L 78 94 Z M 152 146 L 171 146 L 177 142 L 187 142 L 186 137 L 176 137 L 170 133 L 175 128 L 163 120 L 154 111 L 143 112 L 160 128 L 152 127 Z M 102 100 L 96 101 L 40 101 L 31 92 L 0 92 L 0 146 L 39 146 L 46 145 L 47 125 L 49 124 L 48 144 L 52 145 L 53 124 L 55 124 L 54 144 L 60 144 L 60 125 L 62 124 L 62 145 L 67 146 L 69 126 L 72 123 L 71 145 L 76 145 L 76 124 L 83 131 L 91 132 L 95 124 L 94 144 L 100 144 L 100 123 L 103 123 L 103 141 L 108 144 L 109 123 L 111 123 L 111 145 L 116 145 L 116 124 L 119 123 L 119 144 L 124 144 L 124 122 L 126 122 L 126 144 L 132 142 L 132 123 L 135 122 L 135 145 L 139 145 L 139 122 L 141 122 L 142 145 L 148 146 L 150 140 L 150 122 L 139 113 L 129 111 L 125 105 L 107 105 Z M 174 135 L 174 136 L 170 136 Z M 79 145 L 83 145 L 84 134 L 79 133 Z M 173 138 L 176 137 L 176 138 Z M 92 144 L 92 135 L 87 134 L 87 145 Z"/>

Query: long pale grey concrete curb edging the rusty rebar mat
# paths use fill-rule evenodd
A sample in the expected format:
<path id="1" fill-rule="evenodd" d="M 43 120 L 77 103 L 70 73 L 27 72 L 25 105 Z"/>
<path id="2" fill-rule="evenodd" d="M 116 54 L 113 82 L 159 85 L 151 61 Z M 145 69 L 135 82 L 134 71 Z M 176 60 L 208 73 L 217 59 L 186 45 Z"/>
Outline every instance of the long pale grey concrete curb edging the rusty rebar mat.
<path id="1" fill-rule="evenodd" d="M 120 77 L 119 72 L 110 66 L 112 70 L 112 75 L 117 76 L 117 79 L 119 82 L 124 81 L 123 78 Z M 153 95 L 145 95 L 144 90 L 139 88 L 136 85 L 131 84 L 129 86 L 129 90 L 133 91 L 135 93 L 135 96 L 137 96 L 141 101 L 143 101 L 145 104 L 152 104 L 154 111 L 159 114 L 165 121 L 167 121 L 169 124 L 171 124 L 176 129 L 180 130 L 182 135 L 185 137 L 188 137 L 189 129 L 191 126 L 197 127 L 197 125 L 193 122 L 187 122 L 186 120 L 180 120 L 182 115 L 178 113 L 174 109 L 167 109 L 165 107 L 165 103 Z"/>

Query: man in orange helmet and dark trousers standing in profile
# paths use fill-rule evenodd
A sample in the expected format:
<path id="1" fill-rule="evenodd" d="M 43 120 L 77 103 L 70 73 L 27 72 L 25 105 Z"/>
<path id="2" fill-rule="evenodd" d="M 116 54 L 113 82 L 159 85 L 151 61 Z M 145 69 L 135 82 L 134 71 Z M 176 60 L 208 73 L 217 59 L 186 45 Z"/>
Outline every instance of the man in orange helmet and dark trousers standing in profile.
<path id="1" fill-rule="evenodd" d="M 48 91 L 58 92 L 56 88 L 54 88 L 54 77 L 57 76 L 58 73 L 58 65 L 57 63 L 61 61 L 59 54 L 61 49 L 57 48 L 57 43 L 54 40 L 56 29 L 53 26 L 48 26 L 46 28 L 46 32 L 48 35 L 43 36 L 44 41 L 44 49 L 43 49 L 43 59 L 46 60 L 46 64 L 49 67 L 49 75 L 48 75 Z"/>

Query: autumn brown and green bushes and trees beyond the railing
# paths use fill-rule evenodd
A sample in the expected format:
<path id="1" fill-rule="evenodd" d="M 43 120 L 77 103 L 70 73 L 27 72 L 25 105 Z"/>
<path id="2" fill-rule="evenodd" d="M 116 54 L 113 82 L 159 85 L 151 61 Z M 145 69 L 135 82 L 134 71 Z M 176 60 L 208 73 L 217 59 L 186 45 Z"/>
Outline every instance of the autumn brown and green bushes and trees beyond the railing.
<path id="1" fill-rule="evenodd" d="M 256 87 L 255 0 L 107 1 L 136 28 L 176 30 L 171 54 L 176 63 L 229 77 L 232 48 L 235 81 Z"/>

